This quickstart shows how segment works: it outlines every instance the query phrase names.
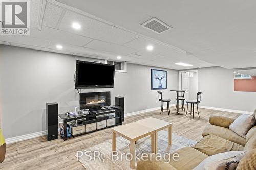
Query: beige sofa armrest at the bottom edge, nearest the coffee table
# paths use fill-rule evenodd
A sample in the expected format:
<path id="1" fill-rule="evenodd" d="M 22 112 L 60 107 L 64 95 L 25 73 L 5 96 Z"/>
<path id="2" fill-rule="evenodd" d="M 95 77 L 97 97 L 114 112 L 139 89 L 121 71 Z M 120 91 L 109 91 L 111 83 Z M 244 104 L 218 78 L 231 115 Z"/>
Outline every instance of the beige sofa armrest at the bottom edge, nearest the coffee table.
<path id="1" fill-rule="evenodd" d="M 155 160 L 139 161 L 137 163 L 137 170 L 177 170 L 169 163 L 158 162 Z"/>

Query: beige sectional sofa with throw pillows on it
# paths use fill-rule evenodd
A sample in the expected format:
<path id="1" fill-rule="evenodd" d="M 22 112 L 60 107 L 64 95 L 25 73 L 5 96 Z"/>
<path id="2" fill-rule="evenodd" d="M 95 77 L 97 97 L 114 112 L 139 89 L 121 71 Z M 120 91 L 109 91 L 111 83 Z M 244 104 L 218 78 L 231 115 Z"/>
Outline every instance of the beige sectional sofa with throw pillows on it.
<path id="1" fill-rule="evenodd" d="M 234 119 L 228 117 L 211 116 L 209 118 L 210 124 L 205 127 L 202 133 L 202 136 L 204 136 L 202 140 L 194 147 L 184 147 L 174 152 L 179 154 L 179 161 L 170 161 L 168 164 L 155 159 L 139 161 L 137 170 L 190 170 L 211 155 L 243 150 L 246 150 L 250 155 L 246 154 L 247 156 L 243 158 L 241 165 L 239 163 L 240 166 L 238 166 L 237 170 L 244 170 L 246 169 L 245 166 L 255 167 L 256 169 L 256 163 L 253 162 L 256 160 L 256 126 L 252 127 L 246 137 L 243 138 L 228 129 L 233 121 Z"/>

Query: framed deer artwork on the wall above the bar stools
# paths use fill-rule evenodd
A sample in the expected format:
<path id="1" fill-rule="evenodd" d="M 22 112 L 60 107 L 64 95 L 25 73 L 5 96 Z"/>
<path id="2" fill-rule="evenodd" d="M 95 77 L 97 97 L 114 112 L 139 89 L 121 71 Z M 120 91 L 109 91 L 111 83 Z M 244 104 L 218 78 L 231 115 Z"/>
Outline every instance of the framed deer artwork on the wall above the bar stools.
<path id="1" fill-rule="evenodd" d="M 167 71 L 151 69 L 151 90 L 167 89 Z"/>

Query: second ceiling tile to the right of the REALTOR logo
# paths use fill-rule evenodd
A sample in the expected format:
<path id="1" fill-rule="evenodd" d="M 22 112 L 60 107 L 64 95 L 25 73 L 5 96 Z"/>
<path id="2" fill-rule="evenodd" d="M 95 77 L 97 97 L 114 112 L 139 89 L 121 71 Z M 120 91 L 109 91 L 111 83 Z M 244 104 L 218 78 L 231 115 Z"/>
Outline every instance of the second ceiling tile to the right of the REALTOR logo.
<path id="1" fill-rule="evenodd" d="M 44 20 L 42 22 L 43 25 L 51 28 L 56 28 L 62 11 L 63 8 L 47 2 L 44 13 Z"/>

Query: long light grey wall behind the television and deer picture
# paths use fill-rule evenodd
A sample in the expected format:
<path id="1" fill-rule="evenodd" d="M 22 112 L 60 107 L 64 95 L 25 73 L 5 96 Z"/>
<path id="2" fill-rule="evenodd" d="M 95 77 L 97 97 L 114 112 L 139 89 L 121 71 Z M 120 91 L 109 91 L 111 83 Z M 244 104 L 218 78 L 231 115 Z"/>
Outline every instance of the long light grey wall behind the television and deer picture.
<path id="1" fill-rule="evenodd" d="M 102 61 L 86 57 L 0 45 L 0 113 L 5 138 L 46 130 L 46 103 L 57 102 L 59 113 L 79 106 L 74 88 L 76 60 Z M 127 64 L 127 73 L 116 72 L 114 89 L 87 89 L 82 92 L 111 91 L 124 96 L 125 114 L 159 107 L 157 90 L 151 90 L 151 69 L 155 67 Z M 161 68 L 157 68 L 161 69 Z M 167 70 L 164 98 L 175 103 L 178 71 Z"/>

